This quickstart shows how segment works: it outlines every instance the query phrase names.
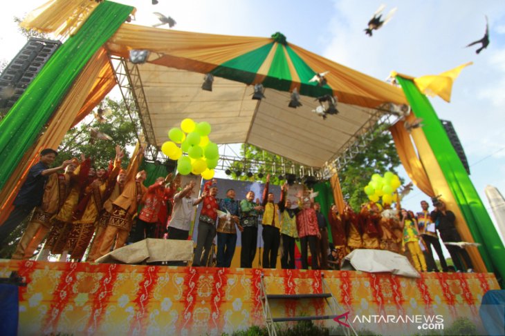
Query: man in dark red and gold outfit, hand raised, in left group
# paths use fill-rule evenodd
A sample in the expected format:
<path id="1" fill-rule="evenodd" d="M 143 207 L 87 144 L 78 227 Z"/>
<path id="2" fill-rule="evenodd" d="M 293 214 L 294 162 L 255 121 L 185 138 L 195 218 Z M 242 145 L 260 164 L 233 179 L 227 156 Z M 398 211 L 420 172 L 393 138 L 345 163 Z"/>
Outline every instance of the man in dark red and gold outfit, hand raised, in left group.
<path id="1" fill-rule="evenodd" d="M 116 146 L 113 167 L 109 172 L 104 168 L 98 168 L 97 178 L 86 187 L 80 203 L 73 212 L 72 228 L 66 239 L 64 250 L 70 251 L 71 259 L 75 261 L 82 259 L 89 246 L 95 230 L 95 220 L 103 208 L 105 191 L 116 181 L 123 156 L 120 146 Z"/>

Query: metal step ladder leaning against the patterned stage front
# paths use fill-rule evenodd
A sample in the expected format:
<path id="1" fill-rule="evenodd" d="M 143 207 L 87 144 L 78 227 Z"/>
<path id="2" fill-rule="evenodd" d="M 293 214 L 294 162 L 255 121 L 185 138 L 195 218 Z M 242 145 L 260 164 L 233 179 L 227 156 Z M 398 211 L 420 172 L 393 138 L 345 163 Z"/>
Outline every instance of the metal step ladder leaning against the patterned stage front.
<path id="1" fill-rule="evenodd" d="M 263 315 L 266 322 L 266 329 L 268 330 L 268 335 L 277 336 L 277 327 L 275 324 L 277 322 L 295 322 L 295 321 L 315 321 L 320 319 L 335 319 L 343 317 L 345 315 L 345 310 L 340 306 L 336 297 L 333 296 L 331 290 L 324 279 L 324 273 L 321 272 L 321 283 L 322 292 L 315 294 L 268 294 L 266 292 L 266 285 L 264 281 L 264 273 L 261 273 L 261 308 L 263 308 Z M 277 299 L 289 299 L 289 300 L 303 300 L 303 299 L 324 299 L 326 304 L 331 310 L 331 315 L 315 315 L 315 316 L 285 316 L 285 317 L 273 317 L 272 310 L 268 304 L 268 300 Z M 340 313 L 340 315 L 339 315 Z M 354 330 L 351 322 L 347 320 L 345 323 L 349 325 L 349 328 L 344 328 L 345 335 L 355 335 L 358 336 L 356 330 Z M 338 324 L 340 325 L 340 324 Z"/>

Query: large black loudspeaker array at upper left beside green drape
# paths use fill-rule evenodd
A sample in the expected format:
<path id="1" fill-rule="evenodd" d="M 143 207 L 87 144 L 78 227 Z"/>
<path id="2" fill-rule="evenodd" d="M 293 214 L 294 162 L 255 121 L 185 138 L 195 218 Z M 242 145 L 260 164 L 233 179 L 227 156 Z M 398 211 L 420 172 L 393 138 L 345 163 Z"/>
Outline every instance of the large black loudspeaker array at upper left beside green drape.
<path id="1" fill-rule="evenodd" d="M 30 38 L 0 74 L 0 108 L 11 108 L 48 59 L 61 46 L 60 41 Z"/>

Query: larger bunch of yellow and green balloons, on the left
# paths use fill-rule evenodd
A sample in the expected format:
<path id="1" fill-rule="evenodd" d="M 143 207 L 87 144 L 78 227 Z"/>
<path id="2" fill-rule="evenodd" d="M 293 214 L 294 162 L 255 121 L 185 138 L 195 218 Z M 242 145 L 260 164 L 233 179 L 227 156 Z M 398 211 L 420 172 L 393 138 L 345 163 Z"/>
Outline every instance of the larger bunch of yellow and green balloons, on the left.
<path id="1" fill-rule="evenodd" d="M 163 154 L 177 161 L 177 172 L 181 175 L 201 175 L 204 179 L 214 177 L 214 168 L 219 161 L 217 144 L 209 139 L 210 123 L 201 121 L 195 123 L 186 118 L 181 121 L 181 128 L 171 128 L 166 141 L 161 146 Z M 178 146 L 181 145 L 181 147 Z M 186 155 L 183 155 L 186 153 Z"/>

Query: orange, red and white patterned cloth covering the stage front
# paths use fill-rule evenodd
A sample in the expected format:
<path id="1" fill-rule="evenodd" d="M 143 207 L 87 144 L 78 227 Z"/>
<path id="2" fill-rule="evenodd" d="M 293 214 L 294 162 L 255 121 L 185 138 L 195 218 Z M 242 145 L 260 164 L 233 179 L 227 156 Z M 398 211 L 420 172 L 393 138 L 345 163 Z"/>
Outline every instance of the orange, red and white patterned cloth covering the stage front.
<path id="1" fill-rule="evenodd" d="M 322 292 L 318 270 L 0 261 L 0 277 L 12 270 L 28 284 L 19 288 L 19 335 L 221 335 L 264 326 L 262 272 L 268 293 Z M 499 289 L 491 273 L 424 273 L 411 279 L 324 271 L 324 277 L 351 320 L 365 314 L 433 314 L 443 316 L 446 328 L 458 317 L 481 325 L 481 298 Z M 274 316 L 331 314 L 322 300 L 271 306 Z M 316 323 L 338 325 L 331 319 Z"/>

